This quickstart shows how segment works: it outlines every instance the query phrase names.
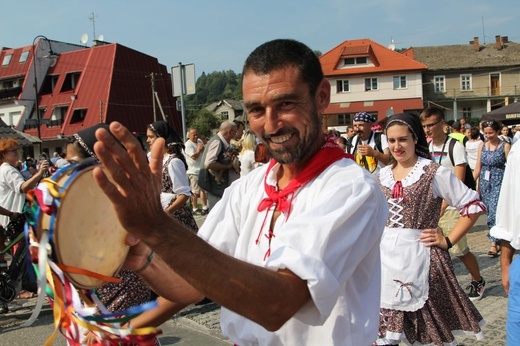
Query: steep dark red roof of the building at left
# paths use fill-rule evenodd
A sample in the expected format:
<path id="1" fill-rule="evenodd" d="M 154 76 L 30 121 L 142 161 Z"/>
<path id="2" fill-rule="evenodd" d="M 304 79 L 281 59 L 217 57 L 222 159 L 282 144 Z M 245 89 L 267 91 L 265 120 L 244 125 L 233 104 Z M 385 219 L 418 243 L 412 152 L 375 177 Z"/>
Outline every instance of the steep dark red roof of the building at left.
<path id="1" fill-rule="evenodd" d="M 80 73 L 74 90 L 61 91 L 67 74 Z M 180 115 L 172 96 L 170 75 L 166 66 L 154 57 L 116 43 L 62 53 L 57 64 L 47 73 L 57 76 L 54 91 L 40 95 L 40 109 L 46 107 L 42 119 L 50 119 L 56 106 L 68 106 L 62 126 L 40 128 L 41 137 L 71 135 L 99 122 L 117 120 L 131 131 L 143 133 L 154 121 L 150 74 L 156 74 L 155 91 L 168 121 L 180 133 Z M 71 96 L 75 99 L 72 100 Z M 157 120 L 162 119 L 156 104 Z M 83 122 L 71 124 L 74 110 L 87 109 Z M 36 135 L 36 129 L 25 132 Z"/>

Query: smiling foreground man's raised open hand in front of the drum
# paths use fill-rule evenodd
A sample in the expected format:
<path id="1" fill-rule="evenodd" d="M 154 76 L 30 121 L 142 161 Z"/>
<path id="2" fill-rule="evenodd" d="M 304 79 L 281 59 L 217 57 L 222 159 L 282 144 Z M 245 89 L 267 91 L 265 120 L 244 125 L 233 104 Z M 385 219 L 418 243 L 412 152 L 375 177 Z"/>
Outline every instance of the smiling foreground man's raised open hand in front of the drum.
<path id="1" fill-rule="evenodd" d="M 126 150 L 105 129 L 98 129 L 94 151 L 108 176 L 96 167 L 94 178 L 113 203 L 121 225 L 136 238 L 149 240 L 150 233 L 160 229 L 163 217 L 168 218 L 159 197 L 164 140 L 154 142 L 148 164 L 141 145 L 124 126 L 113 122 L 110 131 Z"/>

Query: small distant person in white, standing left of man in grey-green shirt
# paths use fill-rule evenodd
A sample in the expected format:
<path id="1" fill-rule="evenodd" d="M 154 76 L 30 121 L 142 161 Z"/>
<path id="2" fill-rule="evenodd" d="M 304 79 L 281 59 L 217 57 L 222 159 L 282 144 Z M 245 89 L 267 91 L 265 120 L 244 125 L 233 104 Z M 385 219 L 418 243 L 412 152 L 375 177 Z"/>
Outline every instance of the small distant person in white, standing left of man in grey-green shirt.
<path id="1" fill-rule="evenodd" d="M 188 164 L 188 178 L 191 186 L 191 205 L 193 208 L 193 214 L 195 215 L 206 215 L 209 211 L 208 199 L 206 197 L 206 191 L 200 188 L 198 184 L 199 171 L 202 167 L 202 153 L 204 152 L 204 143 L 199 139 L 199 133 L 197 129 L 190 128 L 188 130 L 188 140 L 184 143 L 186 154 L 186 163 Z M 199 210 L 199 197 L 202 204 L 202 210 Z"/>

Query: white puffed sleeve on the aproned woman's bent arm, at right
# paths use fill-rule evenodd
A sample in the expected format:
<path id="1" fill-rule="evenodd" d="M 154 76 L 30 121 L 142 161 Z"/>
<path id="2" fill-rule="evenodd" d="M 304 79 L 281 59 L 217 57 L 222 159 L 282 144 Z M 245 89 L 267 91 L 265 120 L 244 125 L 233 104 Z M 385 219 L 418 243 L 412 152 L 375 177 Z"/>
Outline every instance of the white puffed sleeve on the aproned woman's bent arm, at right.
<path id="1" fill-rule="evenodd" d="M 467 169 L 467 168 L 466 168 Z M 441 197 L 448 205 L 455 207 L 461 216 L 486 211 L 477 191 L 468 188 L 453 172 L 440 166 L 433 180 L 433 194 Z"/>

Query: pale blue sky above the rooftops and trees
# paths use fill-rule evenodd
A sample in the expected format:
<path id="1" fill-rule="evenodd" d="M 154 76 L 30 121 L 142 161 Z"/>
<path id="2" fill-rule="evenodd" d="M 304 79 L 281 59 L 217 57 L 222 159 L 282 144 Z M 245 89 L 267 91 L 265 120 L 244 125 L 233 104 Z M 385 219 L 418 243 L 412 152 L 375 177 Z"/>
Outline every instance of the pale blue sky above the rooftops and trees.
<path id="1" fill-rule="evenodd" d="M 194 63 L 197 77 L 240 72 L 247 55 L 274 38 L 294 38 L 322 53 L 370 38 L 397 48 L 481 43 L 495 35 L 520 42 L 518 0 L 29 0 L 2 2 L 0 46 L 37 35 L 80 44 L 96 36 L 157 57 L 168 68 Z"/>

